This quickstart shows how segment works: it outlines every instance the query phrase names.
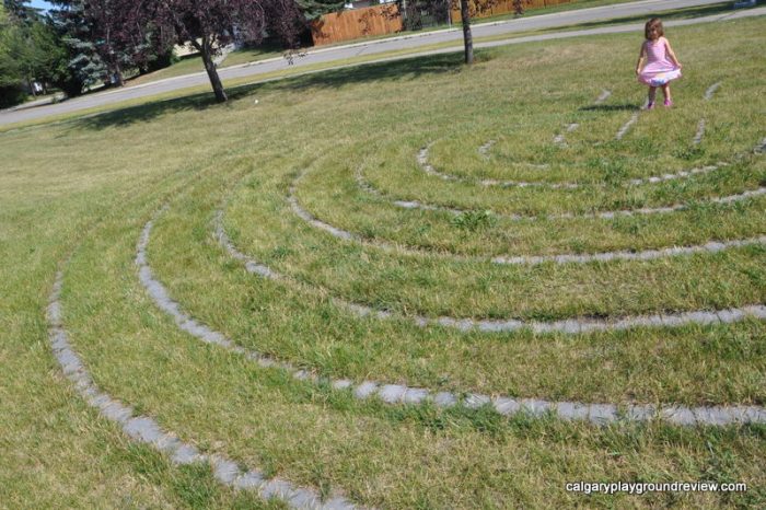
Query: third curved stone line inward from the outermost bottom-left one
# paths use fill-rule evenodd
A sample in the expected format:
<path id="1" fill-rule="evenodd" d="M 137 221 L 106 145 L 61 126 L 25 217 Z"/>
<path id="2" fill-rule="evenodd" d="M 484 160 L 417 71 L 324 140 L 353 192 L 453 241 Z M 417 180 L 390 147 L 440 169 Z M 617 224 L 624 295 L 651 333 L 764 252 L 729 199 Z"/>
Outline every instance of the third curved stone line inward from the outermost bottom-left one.
<path id="1" fill-rule="evenodd" d="M 247 269 L 248 273 L 268 278 L 270 280 L 288 282 L 293 287 L 310 289 L 310 286 L 301 283 L 288 276 L 281 275 L 265 264 L 262 264 L 253 257 L 240 252 L 229 240 L 229 236 L 223 230 L 223 212 L 221 210 L 216 213 L 214 230 L 219 243 L 233 258 L 244 263 L 245 269 Z M 372 316 L 382 320 L 401 318 L 409 320 L 415 325 L 420 327 L 444 326 L 462 332 L 477 331 L 483 333 L 507 333 L 530 329 L 537 334 L 564 333 L 567 335 L 576 335 L 591 332 L 623 331 L 632 327 L 678 327 L 688 324 L 730 324 L 743 321 L 746 317 L 766 320 L 766 305 L 763 304 L 713 311 L 698 310 L 671 314 L 636 315 L 613 320 L 568 318 L 564 321 L 536 322 L 520 321 L 514 318 L 475 320 L 450 316 L 433 318 L 426 317 L 423 315 L 395 315 L 390 311 L 376 310 L 364 304 L 349 302 L 335 297 L 332 297 L 330 301 L 334 305 L 347 310 L 360 317 Z"/>

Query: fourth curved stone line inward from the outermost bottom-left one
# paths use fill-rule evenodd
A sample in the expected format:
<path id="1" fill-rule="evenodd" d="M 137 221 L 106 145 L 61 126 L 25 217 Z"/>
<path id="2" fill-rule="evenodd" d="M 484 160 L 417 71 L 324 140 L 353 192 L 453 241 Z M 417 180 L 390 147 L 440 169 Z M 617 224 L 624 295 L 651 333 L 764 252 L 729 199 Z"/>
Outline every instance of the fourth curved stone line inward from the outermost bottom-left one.
<path id="1" fill-rule="evenodd" d="M 299 176 L 295 183 L 302 177 Z M 330 235 L 341 239 L 344 241 L 352 241 L 361 243 L 368 246 L 372 246 L 378 250 L 384 250 L 386 252 L 404 253 L 406 255 L 413 256 L 437 256 L 437 257 L 449 257 L 456 260 L 474 260 L 474 262 L 489 262 L 492 264 L 510 264 L 510 265 L 538 265 L 538 264 L 588 264 L 592 262 L 612 262 L 612 260 L 652 260 L 654 258 L 663 257 L 676 257 L 694 255 L 697 253 L 718 253 L 729 248 L 752 246 L 758 244 L 766 244 L 766 235 L 758 237 L 750 237 L 742 240 L 732 241 L 710 241 L 701 245 L 693 246 L 673 246 L 669 248 L 661 250 L 643 250 L 640 252 L 632 251 L 616 251 L 616 252 L 600 252 L 600 253 L 589 253 L 589 254 L 559 254 L 559 255 L 521 255 L 521 256 L 510 256 L 500 255 L 491 258 L 486 257 L 474 257 L 467 255 L 456 255 L 456 254 L 442 254 L 429 252 L 427 250 L 405 247 L 401 245 L 393 245 L 383 241 L 370 241 L 361 237 L 358 234 L 349 232 L 347 230 L 334 227 L 325 221 L 315 218 L 311 212 L 306 211 L 301 207 L 295 198 L 295 183 L 290 186 L 289 195 L 287 197 L 288 202 L 292 211 L 301 218 L 306 223 L 312 227 L 324 230 Z"/>

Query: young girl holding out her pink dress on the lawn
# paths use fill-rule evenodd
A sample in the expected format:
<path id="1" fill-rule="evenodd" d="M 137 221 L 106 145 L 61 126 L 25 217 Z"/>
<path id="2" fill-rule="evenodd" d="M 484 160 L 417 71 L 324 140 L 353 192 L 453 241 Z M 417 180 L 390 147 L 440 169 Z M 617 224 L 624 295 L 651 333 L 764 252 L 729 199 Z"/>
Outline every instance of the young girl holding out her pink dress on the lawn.
<path id="1" fill-rule="evenodd" d="M 636 74 L 638 74 L 638 81 L 649 85 L 647 108 L 651 109 L 654 107 L 658 86 L 662 88 L 662 93 L 665 96 L 665 106 L 673 106 L 673 100 L 670 95 L 670 82 L 681 78 L 681 62 L 675 58 L 670 43 L 664 37 L 662 22 L 659 18 L 649 20 L 643 28 L 643 33 L 647 39 L 641 45 L 641 53 L 638 55 Z M 647 65 L 641 69 L 645 59 Z"/>

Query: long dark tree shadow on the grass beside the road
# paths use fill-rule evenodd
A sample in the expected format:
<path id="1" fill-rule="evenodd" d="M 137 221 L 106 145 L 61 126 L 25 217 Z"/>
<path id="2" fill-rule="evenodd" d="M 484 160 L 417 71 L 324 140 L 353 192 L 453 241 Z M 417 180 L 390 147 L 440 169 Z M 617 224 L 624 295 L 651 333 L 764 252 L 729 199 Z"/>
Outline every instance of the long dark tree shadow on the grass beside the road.
<path id="1" fill-rule="evenodd" d="M 413 81 L 428 74 L 459 73 L 462 69 L 462 54 L 443 54 L 387 62 L 364 63 L 341 69 L 317 71 L 310 74 L 286 77 L 276 81 L 229 86 L 225 88 L 229 96 L 229 102 L 227 103 L 216 102 L 212 91 L 171 100 L 150 101 L 137 106 L 127 106 L 74 119 L 71 128 L 100 130 L 109 127 L 127 127 L 181 112 L 225 108 L 236 100 L 259 90 L 310 93 L 315 90 L 338 89 L 343 85 L 356 83 Z M 253 80 L 258 80 L 258 77 L 253 77 Z"/>

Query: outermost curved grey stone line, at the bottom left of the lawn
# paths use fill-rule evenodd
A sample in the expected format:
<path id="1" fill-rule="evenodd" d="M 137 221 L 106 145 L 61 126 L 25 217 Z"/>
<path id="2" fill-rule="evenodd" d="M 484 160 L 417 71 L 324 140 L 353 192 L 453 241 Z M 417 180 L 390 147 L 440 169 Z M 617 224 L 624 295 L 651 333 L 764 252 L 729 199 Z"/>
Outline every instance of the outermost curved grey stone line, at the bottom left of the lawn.
<path id="1" fill-rule="evenodd" d="M 80 396 L 91 407 L 96 408 L 103 417 L 118 425 L 134 441 L 149 444 L 154 450 L 170 455 L 171 461 L 176 465 L 208 462 L 213 470 L 216 479 L 221 484 L 234 489 L 255 491 L 265 499 L 279 498 L 287 502 L 290 508 L 327 510 L 358 508 L 341 497 L 322 502 L 318 492 L 313 489 L 297 487 L 280 478 L 268 479 L 258 470 L 243 471 L 235 462 L 219 454 L 200 453 L 194 445 L 162 430 L 153 418 L 134 415 L 130 407 L 102 392 L 93 382 L 88 368 L 72 349 L 67 331 L 63 328 L 60 302 L 62 278 L 62 273 L 58 271 L 46 311 L 48 337 L 54 356 L 63 374 L 74 384 Z"/>

